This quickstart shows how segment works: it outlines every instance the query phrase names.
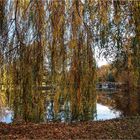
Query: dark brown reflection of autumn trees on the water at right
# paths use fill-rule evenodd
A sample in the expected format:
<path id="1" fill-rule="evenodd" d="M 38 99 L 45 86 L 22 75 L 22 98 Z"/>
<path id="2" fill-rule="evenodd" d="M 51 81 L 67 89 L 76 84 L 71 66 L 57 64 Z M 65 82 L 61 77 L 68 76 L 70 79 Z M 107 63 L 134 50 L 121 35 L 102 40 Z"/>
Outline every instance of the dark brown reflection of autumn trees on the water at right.
<path id="1" fill-rule="evenodd" d="M 112 110 L 119 110 L 121 117 L 140 115 L 140 92 L 99 92 L 98 102 L 109 106 Z"/>

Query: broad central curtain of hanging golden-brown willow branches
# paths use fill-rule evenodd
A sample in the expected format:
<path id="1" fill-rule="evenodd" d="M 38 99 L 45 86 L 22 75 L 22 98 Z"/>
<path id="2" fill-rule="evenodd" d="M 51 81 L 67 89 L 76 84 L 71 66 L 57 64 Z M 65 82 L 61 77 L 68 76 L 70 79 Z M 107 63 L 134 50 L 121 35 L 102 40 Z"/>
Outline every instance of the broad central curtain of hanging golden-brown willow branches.
<path id="1" fill-rule="evenodd" d="M 80 1 L 52 1 L 48 7 L 49 68 L 52 84 L 57 85 L 55 111 L 70 102 L 72 119 L 82 119 L 92 114 L 96 102 L 94 49 L 85 27 L 87 8 Z"/>

